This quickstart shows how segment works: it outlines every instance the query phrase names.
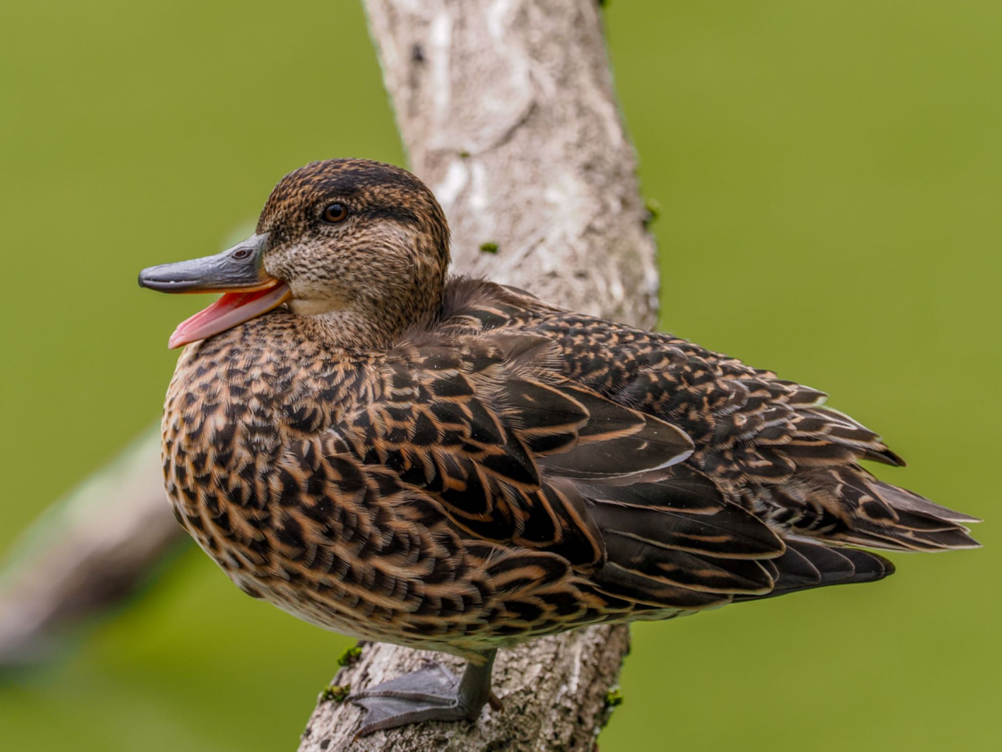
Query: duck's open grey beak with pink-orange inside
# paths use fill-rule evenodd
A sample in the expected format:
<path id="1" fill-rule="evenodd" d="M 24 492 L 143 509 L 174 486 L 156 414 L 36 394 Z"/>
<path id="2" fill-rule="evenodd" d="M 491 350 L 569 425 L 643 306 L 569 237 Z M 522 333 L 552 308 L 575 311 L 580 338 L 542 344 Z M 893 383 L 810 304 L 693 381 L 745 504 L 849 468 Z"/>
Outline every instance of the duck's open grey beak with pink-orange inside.
<path id="1" fill-rule="evenodd" d="M 222 293 L 208 308 L 182 321 L 167 346 L 187 345 L 268 313 L 292 298 L 289 285 L 265 272 L 268 233 L 252 235 L 215 256 L 161 264 L 139 273 L 139 287 L 161 293 Z"/>

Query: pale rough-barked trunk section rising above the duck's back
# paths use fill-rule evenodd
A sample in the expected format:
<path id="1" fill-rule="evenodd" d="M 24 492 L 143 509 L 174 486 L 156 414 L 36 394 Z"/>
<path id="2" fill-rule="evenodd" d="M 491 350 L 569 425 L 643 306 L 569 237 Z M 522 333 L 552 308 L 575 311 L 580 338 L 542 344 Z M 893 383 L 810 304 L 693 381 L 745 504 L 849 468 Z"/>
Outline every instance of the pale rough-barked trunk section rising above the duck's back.
<path id="1" fill-rule="evenodd" d="M 654 244 L 597 2 L 367 7 L 411 166 L 449 218 L 456 268 L 652 326 Z"/>

